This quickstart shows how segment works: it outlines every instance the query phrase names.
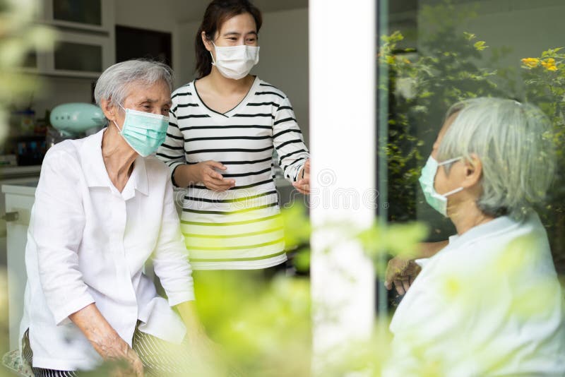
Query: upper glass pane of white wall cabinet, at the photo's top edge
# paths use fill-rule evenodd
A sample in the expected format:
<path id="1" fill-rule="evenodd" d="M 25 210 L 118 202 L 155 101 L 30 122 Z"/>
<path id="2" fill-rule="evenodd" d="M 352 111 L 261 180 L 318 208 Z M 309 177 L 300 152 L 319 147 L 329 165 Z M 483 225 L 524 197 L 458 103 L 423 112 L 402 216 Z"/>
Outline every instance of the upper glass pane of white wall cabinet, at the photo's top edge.
<path id="1" fill-rule="evenodd" d="M 53 18 L 73 23 L 102 25 L 102 1 L 53 0 Z"/>

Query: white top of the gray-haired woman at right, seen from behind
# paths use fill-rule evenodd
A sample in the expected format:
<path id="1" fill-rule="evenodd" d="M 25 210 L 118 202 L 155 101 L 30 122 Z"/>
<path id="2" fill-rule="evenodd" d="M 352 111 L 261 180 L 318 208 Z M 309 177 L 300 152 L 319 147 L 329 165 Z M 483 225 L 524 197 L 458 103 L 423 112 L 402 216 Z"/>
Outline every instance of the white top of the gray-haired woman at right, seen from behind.
<path id="1" fill-rule="evenodd" d="M 535 213 L 451 237 L 391 322 L 383 376 L 565 376 L 565 307 Z"/>

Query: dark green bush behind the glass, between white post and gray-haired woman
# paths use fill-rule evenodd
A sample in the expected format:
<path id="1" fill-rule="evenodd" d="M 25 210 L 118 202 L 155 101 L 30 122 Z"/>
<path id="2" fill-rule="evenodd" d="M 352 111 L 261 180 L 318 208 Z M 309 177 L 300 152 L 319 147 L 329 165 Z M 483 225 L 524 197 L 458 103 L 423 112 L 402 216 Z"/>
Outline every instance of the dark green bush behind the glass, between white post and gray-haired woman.
<path id="1" fill-rule="evenodd" d="M 424 157 L 451 104 L 470 97 L 500 95 L 496 71 L 480 68 L 486 42 L 458 25 L 475 15 L 472 8 L 455 9 L 451 1 L 423 6 L 420 21 L 429 26 L 419 34 L 419 50 L 398 49 L 401 32 L 381 37 L 379 63 L 388 67 L 388 209 L 389 220 L 416 218 L 417 179 Z M 420 134 L 421 138 L 416 135 Z"/>

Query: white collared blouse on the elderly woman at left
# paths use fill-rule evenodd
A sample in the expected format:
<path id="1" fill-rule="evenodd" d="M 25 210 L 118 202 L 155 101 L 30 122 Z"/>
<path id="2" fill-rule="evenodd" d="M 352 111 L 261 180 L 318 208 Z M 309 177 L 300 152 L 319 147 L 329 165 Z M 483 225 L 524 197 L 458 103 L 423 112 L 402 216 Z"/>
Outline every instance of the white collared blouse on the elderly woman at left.
<path id="1" fill-rule="evenodd" d="M 181 342 L 186 328 L 169 306 L 194 300 L 191 266 L 173 202 L 169 169 L 138 157 L 124 190 L 102 160 L 102 133 L 49 149 L 32 208 L 24 316 L 33 366 L 93 369 L 102 359 L 68 316 L 95 303 L 131 345 L 139 329 Z M 143 268 L 153 259 L 167 300 Z"/>

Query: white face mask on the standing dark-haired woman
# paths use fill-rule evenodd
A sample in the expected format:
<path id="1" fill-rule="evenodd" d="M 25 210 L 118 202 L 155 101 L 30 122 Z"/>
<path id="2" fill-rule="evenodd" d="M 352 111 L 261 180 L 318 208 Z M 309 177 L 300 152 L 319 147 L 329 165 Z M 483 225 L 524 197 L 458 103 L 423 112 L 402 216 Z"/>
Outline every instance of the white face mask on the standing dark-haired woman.
<path id="1" fill-rule="evenodd" d="M 214 42 L 212 42 L 214 44 Z M 249 74 L 251 68 L 259 62 L 259 47 L 241 46 L 218 47 L 214 44 L 216 59 L 212 52 L 212 65 L 218 68 L 222 76 L 239 80 Z"/>

